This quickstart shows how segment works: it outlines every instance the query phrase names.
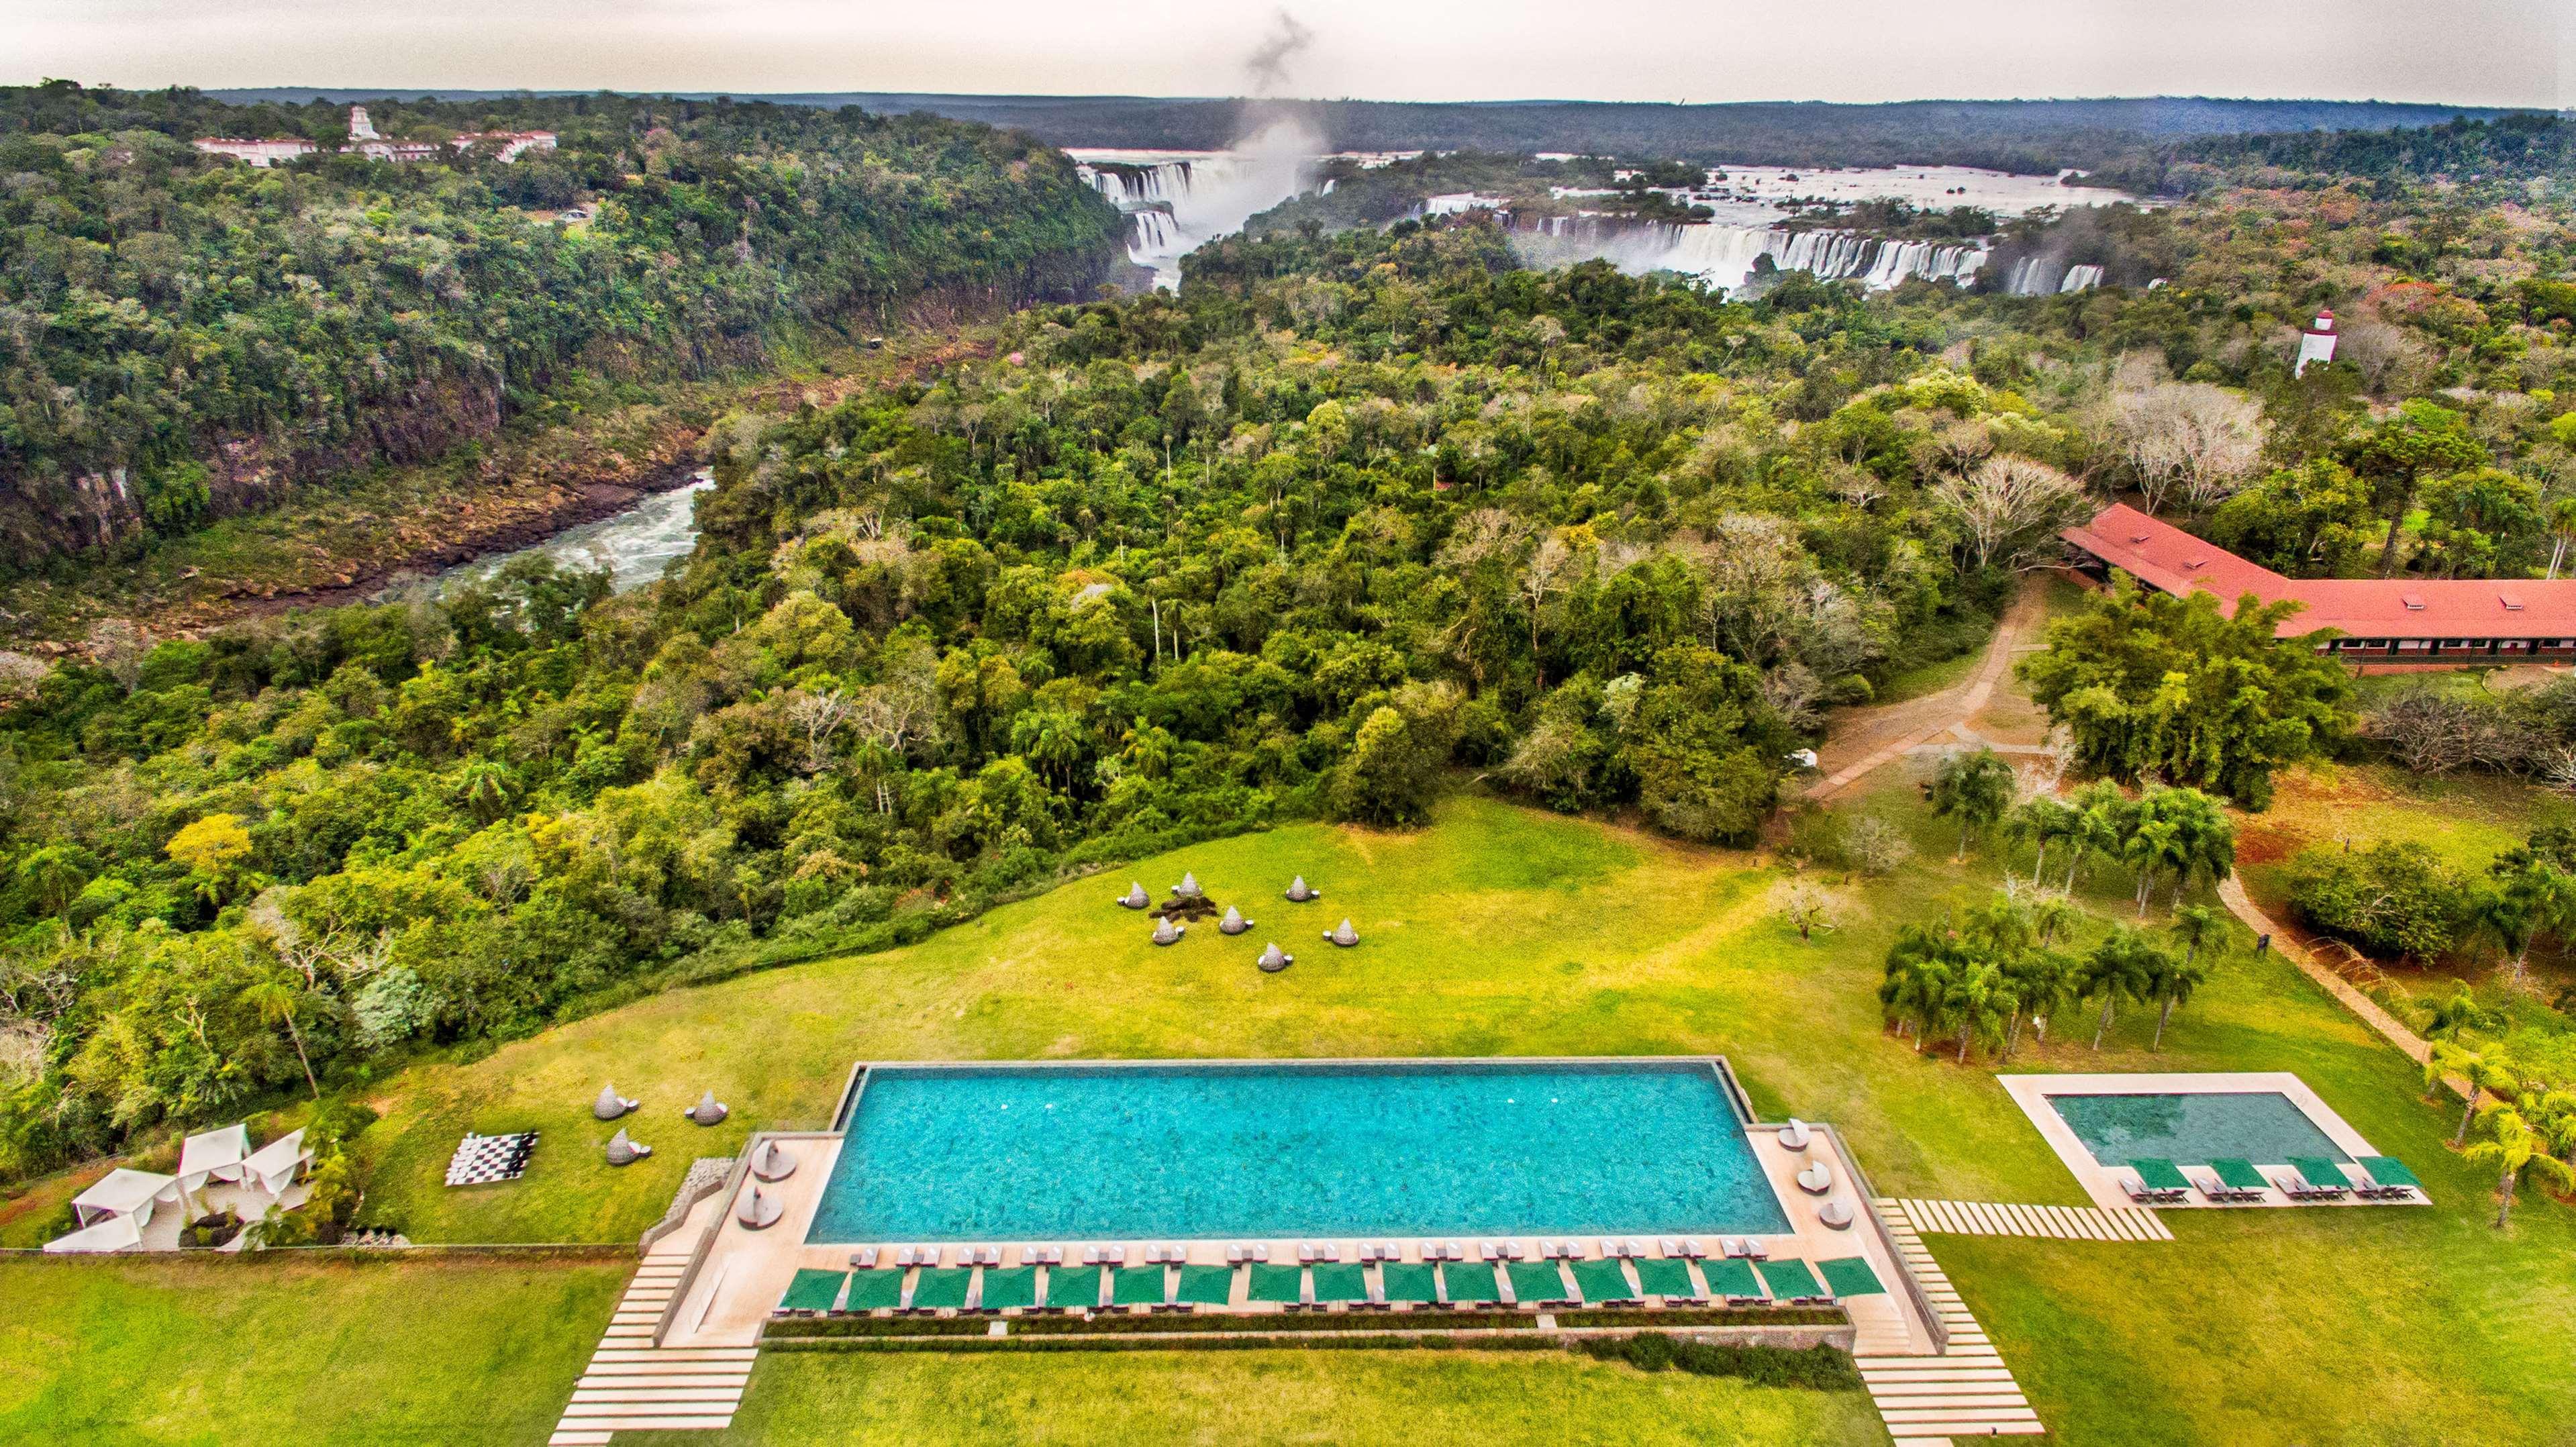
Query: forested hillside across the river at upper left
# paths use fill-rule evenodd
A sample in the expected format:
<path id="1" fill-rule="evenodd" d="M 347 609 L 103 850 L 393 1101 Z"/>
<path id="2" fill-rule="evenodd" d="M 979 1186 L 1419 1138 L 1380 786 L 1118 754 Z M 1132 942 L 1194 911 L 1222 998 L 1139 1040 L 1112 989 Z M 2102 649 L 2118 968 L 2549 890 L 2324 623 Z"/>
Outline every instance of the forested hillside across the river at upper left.
<path id="1" fill-rule="evenodd" d="M 345 108 L 0 90 L 13 564 L 440 453 L 574 373 L 755 366 L 796 330 L 881 330 L 925 294 L 1087 296 L 1121 234 L 1059 152 L 927 116 L 603 95 L 374 121 L 562 144 L 258 170 L 188 142 L 337 147 Z"/>

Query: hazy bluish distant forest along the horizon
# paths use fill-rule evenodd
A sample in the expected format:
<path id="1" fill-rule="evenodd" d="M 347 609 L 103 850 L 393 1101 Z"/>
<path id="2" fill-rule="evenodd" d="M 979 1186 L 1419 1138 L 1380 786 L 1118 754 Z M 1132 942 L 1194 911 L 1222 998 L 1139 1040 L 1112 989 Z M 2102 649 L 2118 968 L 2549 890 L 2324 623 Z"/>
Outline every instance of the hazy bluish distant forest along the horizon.
<path id="1" fill-rule="evenodd" d="M 240 100 L 368 100 L 361 90 L 224 90 Z M 505 100 L 497 93 L 428 93 Z M 930 111 L 1020 126 L 1059 147 L 1224 149 L 1260 111 L 1231 98 L 1146 95 L 768 95 L 791 106 Z M 2473 106 L 2383 100 L 1899 100 L 1834 106 L 1757 100 L 1651 106 L 1628 100 L 1303 100 L 1293 111 L 1337 149 L 1597 152 L 1744 165 L 1981 165 L 2014 173 L 2107 165 L 2143 144 L 2244 131 L 2383 131 L 2491 118 Z"/>

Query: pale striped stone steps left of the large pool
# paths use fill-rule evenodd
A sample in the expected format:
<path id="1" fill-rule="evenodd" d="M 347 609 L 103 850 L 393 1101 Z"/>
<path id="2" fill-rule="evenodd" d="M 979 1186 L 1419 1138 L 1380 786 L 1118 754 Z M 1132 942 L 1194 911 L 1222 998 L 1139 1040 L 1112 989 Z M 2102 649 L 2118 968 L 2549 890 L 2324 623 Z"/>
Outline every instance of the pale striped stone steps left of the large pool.
<path id="1" fill-rule="evenodd" d="M 551 1447 L 600 1447 L 613 1432 L 732 1426 L 760 1349 L 652 1344 L 698 1236 L 698 1231 L 672 1231 L 644 1254 L 644 1264 L 626 1282 L 626 1298 L 608 1318 L 608 1336 L 572 1388 L 572 1406 L 546 1439 Z"/>

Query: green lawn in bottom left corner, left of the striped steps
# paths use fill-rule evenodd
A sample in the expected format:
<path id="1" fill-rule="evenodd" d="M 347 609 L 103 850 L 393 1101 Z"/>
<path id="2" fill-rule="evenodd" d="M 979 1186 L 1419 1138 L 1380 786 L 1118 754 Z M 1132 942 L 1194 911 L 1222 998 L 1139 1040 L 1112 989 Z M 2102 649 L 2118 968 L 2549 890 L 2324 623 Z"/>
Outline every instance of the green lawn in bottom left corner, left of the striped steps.
<path id="1" fill-rule="evenodd" d="M 544 1442 L 631 1272 L 0 1262 L 0 1442 Z"/>

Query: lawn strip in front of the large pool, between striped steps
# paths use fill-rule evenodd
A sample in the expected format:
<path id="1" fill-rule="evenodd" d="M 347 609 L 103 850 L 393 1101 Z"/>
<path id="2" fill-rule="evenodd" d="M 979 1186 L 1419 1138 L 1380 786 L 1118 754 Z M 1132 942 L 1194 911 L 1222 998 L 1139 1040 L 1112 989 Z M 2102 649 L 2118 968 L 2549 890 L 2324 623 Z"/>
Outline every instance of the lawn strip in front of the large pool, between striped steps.
<path id="1" fill-rule="evenodd" d="M 1638 1372 L 1566 1352 L 773 1352 L 732 1432 L 634 1447 L 793 1442 L 1886 1442 L 1868 1393 Z M 618 1442 L 629 1442 L 618 1434 Z"/>

